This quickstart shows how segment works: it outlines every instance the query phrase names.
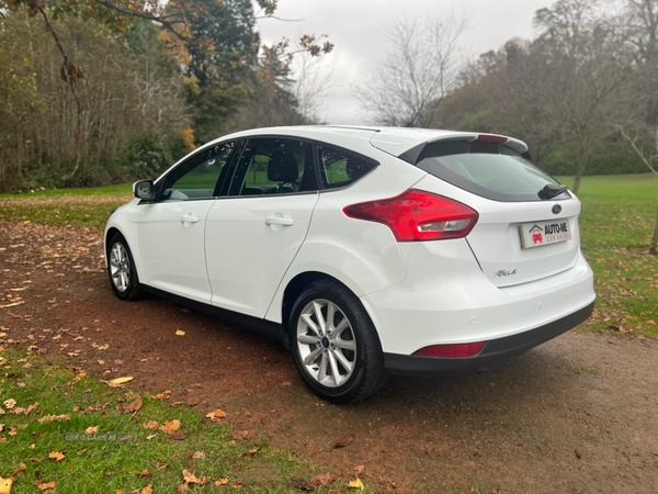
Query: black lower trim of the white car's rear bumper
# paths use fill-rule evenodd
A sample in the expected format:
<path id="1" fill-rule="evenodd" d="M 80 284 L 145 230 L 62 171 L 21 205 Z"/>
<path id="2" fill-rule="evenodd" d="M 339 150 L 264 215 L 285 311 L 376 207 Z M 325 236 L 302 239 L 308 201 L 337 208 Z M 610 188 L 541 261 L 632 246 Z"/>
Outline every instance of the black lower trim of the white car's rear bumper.
<path id="1" fill-rule="evenodd" d="M 385 367 L 394 375 L 432 377 L 476 371 L 541 345 L 586 321 L 594 302 L 544 326 L 503 338 L 491 339 L 474 357 L 440 358 L 384 353 Z"/>

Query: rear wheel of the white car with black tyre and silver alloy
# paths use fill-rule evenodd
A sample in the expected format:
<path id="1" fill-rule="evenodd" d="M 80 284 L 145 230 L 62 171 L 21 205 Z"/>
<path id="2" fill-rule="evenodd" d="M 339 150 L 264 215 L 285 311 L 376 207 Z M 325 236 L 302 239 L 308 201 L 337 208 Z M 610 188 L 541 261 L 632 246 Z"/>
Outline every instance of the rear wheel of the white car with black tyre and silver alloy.
<path id="1" fill-rule="evenodd" d="M 386 384 L 375 326 L 343 285 L 331 280 L 308 285 L 293 306 L 288 332 L 297 371 L 320 397 L 353 403 Z"/>

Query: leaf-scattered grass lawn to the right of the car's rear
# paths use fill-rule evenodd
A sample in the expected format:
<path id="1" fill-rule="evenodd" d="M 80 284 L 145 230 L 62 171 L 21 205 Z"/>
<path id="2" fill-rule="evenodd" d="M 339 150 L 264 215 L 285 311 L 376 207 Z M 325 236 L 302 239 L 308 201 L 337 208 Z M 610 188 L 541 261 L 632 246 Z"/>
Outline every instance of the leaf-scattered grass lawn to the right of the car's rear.
<path id="1" fill-rule="evenodd" d="M 571 186 L 570 177 L 557 177 Z M 658 257 L 647 254 L 658 214 L 658 177 L 585 177 L 582 251 L 595 278 L 594 317 L 582 330 L 658 337 Z"/>

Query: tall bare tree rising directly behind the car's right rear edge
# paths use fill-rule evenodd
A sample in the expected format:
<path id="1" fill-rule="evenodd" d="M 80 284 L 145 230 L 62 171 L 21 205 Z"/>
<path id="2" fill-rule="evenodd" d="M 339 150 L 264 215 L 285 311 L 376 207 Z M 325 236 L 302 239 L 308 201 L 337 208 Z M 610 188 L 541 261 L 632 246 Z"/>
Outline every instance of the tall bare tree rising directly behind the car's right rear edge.
<path id="1" fill-rule="evenodd" d="M 624 93 L 632 86 L 629 52 L 606 27 L 597 3 L 559 0 L 535 15 L 541 34 L 533 43 L 534 58 L 548 67 L 549 90 L 543 100 L 563 138 L 578 151 L 574 192 L 594 148 L 612 132 L 608 120 L 624 112 Z"/>

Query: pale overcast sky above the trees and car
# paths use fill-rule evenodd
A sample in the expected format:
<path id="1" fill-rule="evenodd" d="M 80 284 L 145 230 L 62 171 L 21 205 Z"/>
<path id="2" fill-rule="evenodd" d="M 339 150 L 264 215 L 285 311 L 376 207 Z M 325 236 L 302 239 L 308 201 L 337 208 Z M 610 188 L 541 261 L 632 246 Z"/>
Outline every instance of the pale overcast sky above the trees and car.
<path id="1" fill-rule="evenodd" d="M 442 14 L 465 15 L 468 30 L 460 48 L 470 59 L 500 48 L 512 37 L 531 37 L 536 10 L 554 0 L 280 0 L 275 19 L 258 21 L 263 43 L 302 34 L 326 34 L 334 44 L 322 61 L 327 98 L 319 115 L 330 124 L 363 124 L 359 101 L 351 87 L 376 70 L 386 58 L 386 31 L 392 22 Z"/>

